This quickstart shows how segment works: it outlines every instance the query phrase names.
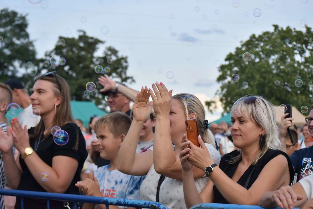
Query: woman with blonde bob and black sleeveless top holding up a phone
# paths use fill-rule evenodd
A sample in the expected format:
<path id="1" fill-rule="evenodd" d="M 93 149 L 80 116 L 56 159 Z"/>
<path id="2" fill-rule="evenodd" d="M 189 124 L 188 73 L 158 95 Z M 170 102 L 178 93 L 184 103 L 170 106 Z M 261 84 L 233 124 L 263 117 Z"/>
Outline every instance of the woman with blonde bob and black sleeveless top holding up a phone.
<path id="1" fill-rule="evenodd" d="M 231 135 L 239 150 L 225 154 L 218 165 L 201 137 L 201 148 L 182 141 L 180 159 L 187 208 L 199 203 L 258 205 L 265 192 L 292 182 L 290 159 L 279 150 L 274 106 L 260 96 L 243 97 L 234 103 L 231 114 Z M 210 177 L 200 194 L 193 181 L 193 167 Z"/>

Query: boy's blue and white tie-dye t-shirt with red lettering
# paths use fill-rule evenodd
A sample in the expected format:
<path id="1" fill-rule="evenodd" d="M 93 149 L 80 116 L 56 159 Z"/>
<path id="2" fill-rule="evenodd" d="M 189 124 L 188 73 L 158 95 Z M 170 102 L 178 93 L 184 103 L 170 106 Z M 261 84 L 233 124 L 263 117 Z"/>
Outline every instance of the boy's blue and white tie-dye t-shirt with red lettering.
<path id="1" fill-rule="evenodd" d="M 103 197 L 141 200 L 139 189 L 146 176 L 130 176 L 118 170 L 108 171 L 109 167 L 110 165 L 102 166 L 95 171 Z M 95 209 L 100 207 L 96 204 Z"/>

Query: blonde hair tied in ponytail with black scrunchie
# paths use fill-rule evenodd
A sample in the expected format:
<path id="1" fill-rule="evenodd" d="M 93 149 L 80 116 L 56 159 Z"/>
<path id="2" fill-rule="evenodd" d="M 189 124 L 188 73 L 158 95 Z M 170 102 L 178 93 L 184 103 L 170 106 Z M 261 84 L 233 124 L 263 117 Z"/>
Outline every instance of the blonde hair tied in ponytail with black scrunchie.
<path id="1" fill-rule="evenodd" d="M 191 96 L 192 100 L 187 102 L 185 100 L 186 96 Z M 186 94 L 186 93 L 180 93 L 176 94 L 172 97 L 172 99 L 177 99 L 180 101 L 182 108 L 185 110 L 186 118 L 188 118 L 188 115 L 191 114 L 192 112 L 196 113 L 197 115 L 197 128 L 198 128 L 198 133 L 201 136 L 203 142 L 211 144 L 213 147 L 215 147 L 215 139 L 212 134 L 212 132 L 208 129 L 203 127 L 203 122 L 205 120 L 205 109 L 198 99 L 198 97 L 192 95 L 192 94 Z"/>

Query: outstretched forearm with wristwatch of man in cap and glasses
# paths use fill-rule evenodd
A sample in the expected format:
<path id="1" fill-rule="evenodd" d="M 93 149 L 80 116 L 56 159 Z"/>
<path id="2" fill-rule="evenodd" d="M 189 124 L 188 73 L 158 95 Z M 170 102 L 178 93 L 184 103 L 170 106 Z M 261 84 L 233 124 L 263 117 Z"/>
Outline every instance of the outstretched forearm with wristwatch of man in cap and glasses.
<path id="1" fill-rule="evenodd" d="M 126 87 L 124 85 L 119 85 L 116 82 L 114 82 L 108 75 L 101 76 L 98 78 L 100 84 L 104 87 L 100 90 L 100 92 L 108 92 L 110 90 L 117 90 L 118 93 L 123 94 L 125 97 L 127 97 L 132 102 L 135 101 L 137 91 L 134 89 L 131 89 L 129 87 Z M 117 85 L 116 85 L 117 84 Z"/>

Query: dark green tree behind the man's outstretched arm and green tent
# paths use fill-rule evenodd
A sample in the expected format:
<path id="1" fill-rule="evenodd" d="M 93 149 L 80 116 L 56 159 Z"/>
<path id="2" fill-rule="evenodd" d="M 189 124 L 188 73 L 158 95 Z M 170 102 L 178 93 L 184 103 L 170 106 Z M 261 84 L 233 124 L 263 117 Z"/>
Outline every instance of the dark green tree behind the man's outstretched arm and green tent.
<path id="1" fill-rule="evenodd" d="M 133 77 L 127 76 L 127 57 L 120 56 L 114 47 L 106 47 L 102 56 L 96 56 L 99 48 L 104 45 L 95 37 L 90 37 L 85 31 L 79 30 L 79 36 L 75 37 L 59 37 L 53 50 L 45 53 L 45 58 L 39 59 L 37 75 L 44 74 L 48 71 L 56 71 L 58 75 L 63 77 L 69 84 L 71 96 L 74 100 L 86 100 L 95 102 L 96 105 L 105 105 L 103 96 L 99 90 L 103 88 L 98 82 L 101 73 L 95 72 L 97 65 L 110 67 L 110 72 L 106 72 L 108 76 L 120 82 L 134 82 Z M 50 58 L 54 55 L 64 57 L 66 62 L 64 65 L 48 67 L 43 65 L 44 61 L 50 63 Z M 28 75 L 26 75 L 28 76 Z M 29 77 L 29 76 L 28 76 Z M 96 89 L 89 96 L 84 95 L 86 84 L 94 82 Z M 32 87 L 33 79 L 28 79 L 28 87 Z"/>

